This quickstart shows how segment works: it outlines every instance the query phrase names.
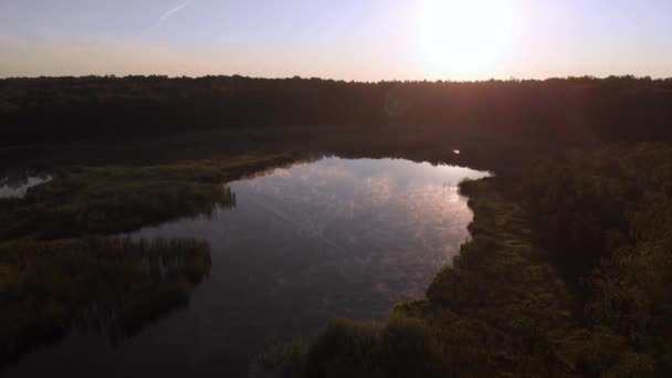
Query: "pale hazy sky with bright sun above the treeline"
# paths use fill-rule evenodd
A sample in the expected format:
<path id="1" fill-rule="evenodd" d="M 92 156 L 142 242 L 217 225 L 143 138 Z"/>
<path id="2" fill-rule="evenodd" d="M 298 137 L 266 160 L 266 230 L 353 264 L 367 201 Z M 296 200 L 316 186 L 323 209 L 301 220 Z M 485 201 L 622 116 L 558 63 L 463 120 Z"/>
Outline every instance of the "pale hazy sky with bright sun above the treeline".
<path id="1" fill-rule="evenodd" d="M 672 0 L 0 0 L 0 77 L 672 76 Z"/>

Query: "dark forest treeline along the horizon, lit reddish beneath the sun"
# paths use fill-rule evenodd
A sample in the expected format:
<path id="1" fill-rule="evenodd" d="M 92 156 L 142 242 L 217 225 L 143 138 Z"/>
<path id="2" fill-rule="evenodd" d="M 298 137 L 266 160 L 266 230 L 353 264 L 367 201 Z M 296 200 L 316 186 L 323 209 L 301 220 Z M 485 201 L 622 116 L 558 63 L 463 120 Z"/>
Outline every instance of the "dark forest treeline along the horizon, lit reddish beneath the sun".
<path id="1" fill-rule="evenodd" d="M 545 143 L 669 140 L 672 80 L 379 82 L 206 76 L 0 81 L 2 146 L 212 128 L 412 126 Z M 637 127 L 633 127 L 636 125 Z"/>

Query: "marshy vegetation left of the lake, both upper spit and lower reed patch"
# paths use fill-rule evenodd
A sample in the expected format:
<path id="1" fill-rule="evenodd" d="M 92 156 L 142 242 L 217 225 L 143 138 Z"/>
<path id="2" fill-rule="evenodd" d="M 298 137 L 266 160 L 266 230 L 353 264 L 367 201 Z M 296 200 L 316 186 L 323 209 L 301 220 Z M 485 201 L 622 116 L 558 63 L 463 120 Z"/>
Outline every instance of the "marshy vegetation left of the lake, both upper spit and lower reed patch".
<path id="1" fill-rule="evenodd" d="M 118 343 L 187 305 L 210 271 L 207 243 L 107 235 L 233 207 L 227 181 L 292 161 L 62 167 L 24 198 L 0 199 L 0 367 L 75 328 Z"/>

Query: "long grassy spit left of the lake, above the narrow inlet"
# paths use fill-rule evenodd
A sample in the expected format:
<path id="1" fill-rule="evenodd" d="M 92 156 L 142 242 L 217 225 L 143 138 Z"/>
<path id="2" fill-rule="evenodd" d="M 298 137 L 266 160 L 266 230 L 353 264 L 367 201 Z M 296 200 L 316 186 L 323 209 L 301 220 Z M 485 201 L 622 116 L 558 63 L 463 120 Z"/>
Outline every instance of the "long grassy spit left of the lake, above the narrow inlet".
<path id="1" fill-rule="evenodd" d="M 157 166 L 57 168 L 22 200 L 0 200 L 0 239 L 59 239 L 130 232 L 234 206 L 223 182 L 288 164 L 285 155 Z"/>

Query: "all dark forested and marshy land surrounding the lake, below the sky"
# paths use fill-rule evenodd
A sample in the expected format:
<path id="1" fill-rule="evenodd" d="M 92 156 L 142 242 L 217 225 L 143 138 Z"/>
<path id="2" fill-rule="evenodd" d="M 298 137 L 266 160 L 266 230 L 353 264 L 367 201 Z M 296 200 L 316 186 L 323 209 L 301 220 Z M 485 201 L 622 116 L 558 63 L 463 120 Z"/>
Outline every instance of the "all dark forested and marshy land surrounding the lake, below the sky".
<path id="1" fill-rule="evenodd" d="M 494 176 L 460 183 L 471 239 L 426 297 L 271 344 L 252 376 L 670 376 L 671 123 L 672 80 L 634 76 L 0 80 L 0 168 L 55 176 L 0 199 L 0 365 L 72 327 L 132 335 L 209 272 L 202 242 L 114 235 L 234 207 L 222 182 L 336 154 Z"/>

